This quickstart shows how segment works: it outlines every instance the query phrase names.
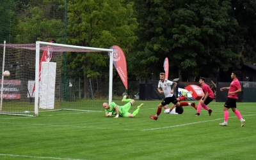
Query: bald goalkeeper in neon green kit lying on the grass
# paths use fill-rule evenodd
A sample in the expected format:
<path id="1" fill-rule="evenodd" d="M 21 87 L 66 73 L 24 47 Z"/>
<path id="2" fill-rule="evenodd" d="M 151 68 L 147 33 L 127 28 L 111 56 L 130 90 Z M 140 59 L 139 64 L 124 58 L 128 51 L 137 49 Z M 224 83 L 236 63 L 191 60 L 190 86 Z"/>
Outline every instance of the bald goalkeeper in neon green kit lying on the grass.
<path id="1" fill-rule="evenodd" d="M 128 103 L 126 103 L 124 106 L 118 106 L 116 105 L 115 102 L 111 102 L 109 105 L 108 103 L 103 103 L 103 108 L 105 108 L 105 115 L 106 117 L 109 117 L 111 115 L 116 115 L 115 118 L 118 118 L 119 116 L 121 117 L 135 117 L 138 113 L 139 110 L 141 108 L 141 106 L 143 106 L 144 104 L 141 103 L 140 106 L 138 106 L 138 108 L 136 110 L 134 110 L 134 112 L 129 113 L 129 110 L 131 108 L 131 106 L 135 103 L 134 99 L 125 99 L 125 101 L 129 101 Z"/>

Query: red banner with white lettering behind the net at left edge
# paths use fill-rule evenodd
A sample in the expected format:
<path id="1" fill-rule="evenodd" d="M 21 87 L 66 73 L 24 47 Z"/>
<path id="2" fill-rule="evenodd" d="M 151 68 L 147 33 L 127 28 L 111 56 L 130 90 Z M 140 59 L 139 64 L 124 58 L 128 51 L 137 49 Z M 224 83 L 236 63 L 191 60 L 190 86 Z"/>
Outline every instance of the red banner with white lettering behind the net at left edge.
<path id="1" fill-rule="evenodd" d="M 2 80 L 0 79 L 1 83 Z M 3 99 L 20 99 L 20 80 L 4 80 Z"/>

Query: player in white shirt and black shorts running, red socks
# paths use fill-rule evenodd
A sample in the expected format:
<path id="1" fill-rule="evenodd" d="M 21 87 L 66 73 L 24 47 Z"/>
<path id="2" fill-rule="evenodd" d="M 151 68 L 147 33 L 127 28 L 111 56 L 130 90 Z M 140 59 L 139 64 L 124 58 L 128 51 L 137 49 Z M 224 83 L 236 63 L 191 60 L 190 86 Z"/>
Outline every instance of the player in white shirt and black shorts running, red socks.
<path id="1" fill-rule="evenodd" d="M 173 89 L 171 87 L 171 85 L 173 84 Z M 153 116 L 153 115 L 150 115 L 150 119 L 154 119 L 154 120 L 157 120 L 158 119 L 158 116 L 160 115 L 160 113 L 162 112 L 162 108 L 163 106 L 165 105 L 169 105 L 171 102 L 176 105 L 177 107 L 180 107 L 180 106 L 188 106 L 188 103 L 187 102 L 179 102 L 175 96 L 173 95 L 173 91 L 175 89 L 175 87 L 177 87 L 177 83 L 176 82 L 172 82 L 170 80 L 166 80 L 165 79 L 165 73 L 160 73 L 160 80 L 159 80 L 159 83 L 158 83 L 158 88 L 157 88 L 157 91 L 160 93 L 160 94 L 163 94 L 164 93 L 164 100 L 157 106 L 157 112 L 156 112 L 156 115 Z M 161 89 L 163 91 L 161 91 Z M 194 108 L 197 108 L 196 106 L 194 106 Z M 180 108 L 181 109 L 181 108 Z"/>

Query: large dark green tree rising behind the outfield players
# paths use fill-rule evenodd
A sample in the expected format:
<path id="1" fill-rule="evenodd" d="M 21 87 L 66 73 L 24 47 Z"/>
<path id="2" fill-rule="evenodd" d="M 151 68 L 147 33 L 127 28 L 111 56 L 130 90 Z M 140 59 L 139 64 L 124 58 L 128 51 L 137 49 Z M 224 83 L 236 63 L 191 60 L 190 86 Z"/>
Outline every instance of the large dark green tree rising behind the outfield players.
<path id="1" fill-rule="evenodd" d="M 229 14 L 230 1 L 139 3 L 136 11 L 140 13 L 140 41 L 132 60 L 141 62 L 132 65 L 143 68 L 147 78 L 158 78 L 156 71 L 163 72 L 164 57 L 170 61 L 170 74 L 177 77 L 180 73 L 183 81 L 200 75 L 218 75 L 220 69 L 227 71 L 239 64 L 239 25 Z"/>

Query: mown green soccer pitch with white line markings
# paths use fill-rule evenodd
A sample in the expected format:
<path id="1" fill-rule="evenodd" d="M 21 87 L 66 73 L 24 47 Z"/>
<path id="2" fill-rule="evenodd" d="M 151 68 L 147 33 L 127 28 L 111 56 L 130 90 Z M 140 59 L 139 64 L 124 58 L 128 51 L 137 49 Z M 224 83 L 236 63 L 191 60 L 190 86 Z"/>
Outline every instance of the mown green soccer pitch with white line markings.
<path id="1" fill-rule="evenodd" d="M 224 103 L 192 106 L 182 115 L 155 115 L 161 101 L 136 101 L 131 112 L 145 105 L 134 118 L 104 117 L 95 111 L 40 112 L 38 117 L 0 115 L 0 159 L 255 159 L 256 103 L 237 103 L 244 127 L 229 110 L 223 122 Z M 124 105 L 115 101 L 117 105 Z M 196 102 L 197 105 L 197 102 Z"/>

